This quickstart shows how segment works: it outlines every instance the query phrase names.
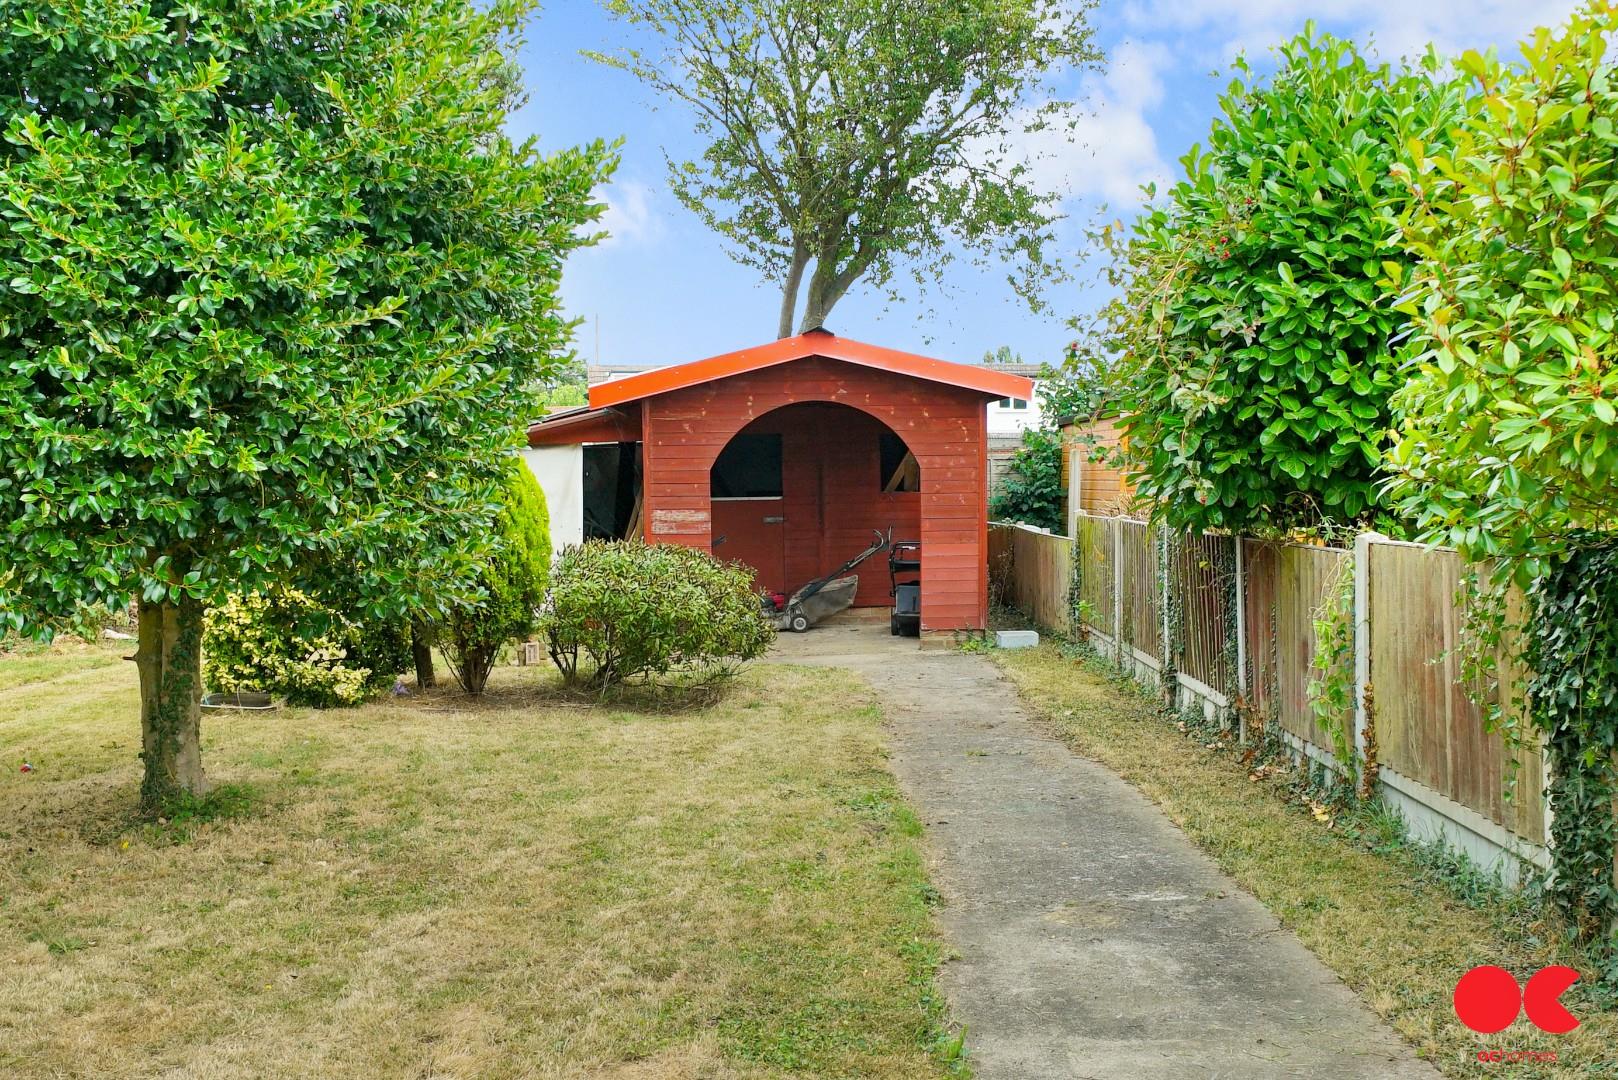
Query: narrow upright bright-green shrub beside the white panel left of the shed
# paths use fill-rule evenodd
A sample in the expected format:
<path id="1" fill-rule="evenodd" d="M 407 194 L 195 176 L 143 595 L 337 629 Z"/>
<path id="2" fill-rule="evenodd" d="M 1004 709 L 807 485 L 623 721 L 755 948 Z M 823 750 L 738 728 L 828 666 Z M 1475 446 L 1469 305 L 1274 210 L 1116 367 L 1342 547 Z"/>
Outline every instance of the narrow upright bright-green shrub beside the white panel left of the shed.
<path id="1" fill-rule="evenodd" d="M 451 610 L 438 630 L 443 659 L 466 693 L 484 691 L 503 644 L 534 633 L 545 599 L 550 515 L 545 492 L 523 465 L 506 481 L 495 529 L 498 542 L 479 576 L 482 599 Z"/>

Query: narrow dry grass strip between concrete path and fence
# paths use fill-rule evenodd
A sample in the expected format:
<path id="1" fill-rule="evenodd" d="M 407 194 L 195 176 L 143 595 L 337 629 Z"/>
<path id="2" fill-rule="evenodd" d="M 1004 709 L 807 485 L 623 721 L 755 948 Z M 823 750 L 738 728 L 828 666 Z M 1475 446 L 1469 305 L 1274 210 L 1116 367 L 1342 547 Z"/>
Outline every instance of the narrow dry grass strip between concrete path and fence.
<path id="1" fill-rule="evenodd" d="M 1251 782 L 1231 755 L 1188 738 L 1050 644 L 995 659 L 1076 751 L 1162 806 L 1446 1075 L 1618 1077 L 1618 1014 L 1602 1012 L 1582 983 L 1565 997 L 1582 1022 L 1571 1035 L 1545 1035 L 1521 1017 L 1500 1035 L 1474 1035 L 1456 1020 L 1455 981 L 1474 965 L 1497 963 L 1519 983 L 1547 963 L 1581 967 L 1548 934 L 1535 938 L 1540 928 L 1463 904 L 1408 848 L 1370 850 L 1341 824 L 1317 824 Z M 1482 1064 L 1485 1049 L 1548 1052 L 1557 1064 Z"/>

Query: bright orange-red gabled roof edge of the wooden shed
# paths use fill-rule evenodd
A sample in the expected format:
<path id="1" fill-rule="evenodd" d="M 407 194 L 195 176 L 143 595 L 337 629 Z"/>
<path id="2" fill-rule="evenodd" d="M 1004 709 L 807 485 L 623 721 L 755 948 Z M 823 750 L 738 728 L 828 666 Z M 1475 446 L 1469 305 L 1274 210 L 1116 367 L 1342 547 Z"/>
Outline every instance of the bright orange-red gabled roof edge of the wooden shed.
<path id="1" fill-rule="evenodd" d="M 762 368 L 773 368 L 807 356 L 827 356 L 862 368 L 893 371 L 913 379 L 943 382 L 966 390 L 977 390 L 992 398 L 1023 398 L 1034 395 L 1034 382 L 1018 374 L 984 368 L 981 364 L 956 364 L 932 356 L 901 353 L 895 348 L 867 345 L 846 337 L 837 337 L 830 330 L 809 330 L 796 337 L 786 337 L 767 345 L 756 345 L 735 353 L 694 359 L 686 364 L 670 368 L 654 368 L 639 374 L 600 382 L 591 387 L 591 408 L 602 410 L 626 402 L 683 390 L 686 387 L 726 379 Z"/>

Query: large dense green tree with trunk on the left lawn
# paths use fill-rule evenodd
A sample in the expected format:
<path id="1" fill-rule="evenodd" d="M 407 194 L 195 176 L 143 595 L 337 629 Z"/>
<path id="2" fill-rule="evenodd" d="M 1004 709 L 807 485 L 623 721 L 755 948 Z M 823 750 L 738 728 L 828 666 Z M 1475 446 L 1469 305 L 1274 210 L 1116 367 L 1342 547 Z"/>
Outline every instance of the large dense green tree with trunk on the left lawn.
<path id="1" fill-rule="evenodd" d="M 0 625 L 139 597 L 149 806 L 207 606 L 472 578 L 612 164 L 502 134 L 527 11 L 0 0 Z"/>

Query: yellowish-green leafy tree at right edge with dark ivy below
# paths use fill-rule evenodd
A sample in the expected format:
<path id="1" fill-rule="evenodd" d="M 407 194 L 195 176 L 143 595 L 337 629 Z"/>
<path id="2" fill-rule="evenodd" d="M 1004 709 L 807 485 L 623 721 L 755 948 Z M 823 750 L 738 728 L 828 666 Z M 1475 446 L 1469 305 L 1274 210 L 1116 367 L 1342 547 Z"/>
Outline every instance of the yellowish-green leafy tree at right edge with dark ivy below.
<path id="1" fill-rule="evenodd" d="M 1413 321 L 1395 398 L 1395 505 L 1421 538 L 1490 560 L 1466 661 L 1526 699 L 1550 772 L 1550 895 L 1618 973 L 1618 10 L 1540 29 L 1523 60 L 1468 52 L 1453 142 L 1416 146 L 1390 266 Z M 1526 635 L 1506 586 L 1527 585 Z M 1508 682 L 1492 651 L 1532 672 Z M 1497 722 L 1519 738 L 1516 719 Z M 1537 740 L 1535 740 L 1537 742 Z"/>

